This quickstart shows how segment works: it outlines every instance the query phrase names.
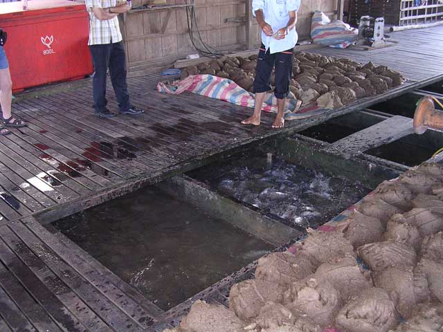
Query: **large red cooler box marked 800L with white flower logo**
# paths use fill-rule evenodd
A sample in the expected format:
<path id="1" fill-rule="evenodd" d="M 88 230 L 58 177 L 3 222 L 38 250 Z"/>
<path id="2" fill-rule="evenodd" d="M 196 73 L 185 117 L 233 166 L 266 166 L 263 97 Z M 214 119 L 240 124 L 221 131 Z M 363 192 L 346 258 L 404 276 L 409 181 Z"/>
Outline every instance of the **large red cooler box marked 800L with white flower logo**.
<path id="1" fill-rule="evenodd" d="M 88 49 L 89 17 L 84 3 L 30 0 L 0 3 L 0 28 L 15 91 L 72 80 L 93 72 Z"/>

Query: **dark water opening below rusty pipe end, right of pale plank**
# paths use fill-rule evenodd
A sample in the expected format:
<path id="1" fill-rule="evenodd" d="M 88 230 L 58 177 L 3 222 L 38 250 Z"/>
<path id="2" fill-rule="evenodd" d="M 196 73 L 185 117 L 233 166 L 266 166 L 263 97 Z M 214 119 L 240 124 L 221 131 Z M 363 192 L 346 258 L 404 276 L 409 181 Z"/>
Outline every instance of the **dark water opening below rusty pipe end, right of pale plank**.
<path id="1" fill-rule="evenodd" d="M 437 148 L 426 149 L 426 147 L 419 147 L 401 140 L 395 140 L 389 144 L 369 149 L 365 151 L 365 154 L 412 167 L 431 158 L 436 150 Z"/>

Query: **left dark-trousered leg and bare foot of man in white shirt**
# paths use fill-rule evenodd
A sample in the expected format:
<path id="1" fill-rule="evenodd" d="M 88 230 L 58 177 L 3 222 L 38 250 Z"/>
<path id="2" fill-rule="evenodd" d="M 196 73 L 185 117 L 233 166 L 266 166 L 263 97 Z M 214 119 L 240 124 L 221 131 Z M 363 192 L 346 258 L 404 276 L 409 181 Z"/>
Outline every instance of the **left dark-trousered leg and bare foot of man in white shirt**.
<path id="1" fill-rule="evenodd" d="M 255 80 L 254 80 L 254 113 L 253 116 L 242 121 L 242 124 L 254 124 L 258 126 L 260 124 L 260 116 L 262 114 L 262 105 L 266 91 L 271 90 L 271 73 L 274 66 L 274 57 L 269 54 L 269 50 L 266 53 L 264 45 L 260 47 L 257 59 L 257 67 L 255 68 Z"/>

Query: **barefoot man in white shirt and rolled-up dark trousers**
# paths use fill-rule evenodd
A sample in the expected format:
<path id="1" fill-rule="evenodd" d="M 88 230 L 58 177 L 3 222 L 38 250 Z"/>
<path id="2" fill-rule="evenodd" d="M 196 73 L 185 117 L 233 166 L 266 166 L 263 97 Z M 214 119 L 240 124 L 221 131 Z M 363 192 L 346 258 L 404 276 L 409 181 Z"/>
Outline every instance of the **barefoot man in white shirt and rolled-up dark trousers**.
<path id="1" fill-rule="evenodd" d="M 275 66 L 275 90 L 278 112 L 273 128 L 284 127 L 284 104 L 289 93 L 292 75 L 293 48 L 297 44 L 297 11 L 300 0 L 253 0 L 253 15 L 262 29 L 262 46 L 255 68 L 253 116 L 242 124 L 260 124 L 262 104 L 267 91 L 271 90 L 271 73 Z"/>

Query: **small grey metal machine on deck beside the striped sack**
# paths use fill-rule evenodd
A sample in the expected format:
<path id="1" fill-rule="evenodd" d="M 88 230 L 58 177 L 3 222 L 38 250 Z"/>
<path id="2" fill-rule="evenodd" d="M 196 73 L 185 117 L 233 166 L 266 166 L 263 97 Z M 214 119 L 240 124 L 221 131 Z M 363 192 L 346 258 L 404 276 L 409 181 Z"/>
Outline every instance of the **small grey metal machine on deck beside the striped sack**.
<path id="1" fill-rule="evenodd" d="M 377 17 L 374 19 L 370 16 L 362 16 L 359 23 L 359 39 L 357 45 L 368 45 L 372 48 L 379 48 L 386 45 L 385 35 L 385 19 Z"/>

